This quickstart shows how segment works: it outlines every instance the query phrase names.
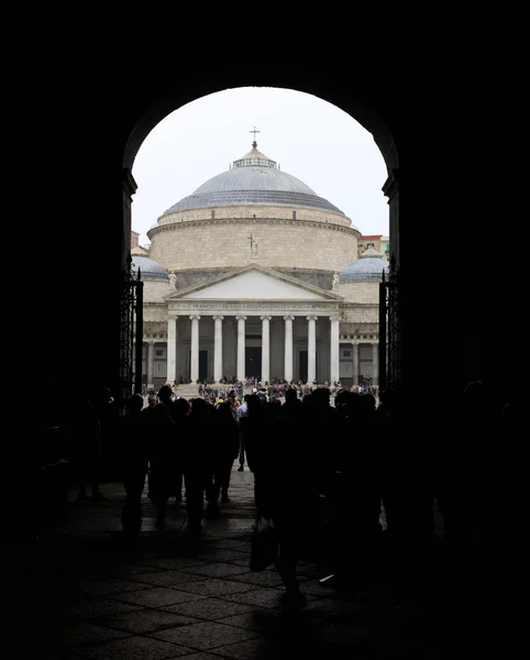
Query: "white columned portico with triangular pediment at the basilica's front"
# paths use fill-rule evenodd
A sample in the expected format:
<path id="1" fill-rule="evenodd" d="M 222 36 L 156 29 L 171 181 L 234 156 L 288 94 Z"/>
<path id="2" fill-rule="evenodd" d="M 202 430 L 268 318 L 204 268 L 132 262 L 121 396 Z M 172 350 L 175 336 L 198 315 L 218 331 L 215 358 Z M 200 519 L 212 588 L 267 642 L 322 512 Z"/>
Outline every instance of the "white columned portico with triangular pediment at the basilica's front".
<path id="1" fill-rule="evenodd" d="M 167 381 L 247 376 L 262 382 L 339 378 L 342 298 L 260 266 L 167 297 Z M 261 373 L 245 373 L 261 349 Z M 208 352 L 207 373 L 199 354 Z"/>

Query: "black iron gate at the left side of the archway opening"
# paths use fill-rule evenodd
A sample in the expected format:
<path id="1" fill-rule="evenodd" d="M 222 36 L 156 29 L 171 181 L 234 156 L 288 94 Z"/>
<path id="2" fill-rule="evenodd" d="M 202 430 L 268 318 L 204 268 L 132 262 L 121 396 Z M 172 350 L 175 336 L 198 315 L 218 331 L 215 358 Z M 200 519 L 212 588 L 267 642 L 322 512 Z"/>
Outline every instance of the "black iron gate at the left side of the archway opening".
<path id="1" fill-rule="evenodd" d="M 142 394 L 143 292 L 140 267 L 134 272 L 129 253 L 122 270 L 119 408 L 124 414 L 133 393 Z"/>

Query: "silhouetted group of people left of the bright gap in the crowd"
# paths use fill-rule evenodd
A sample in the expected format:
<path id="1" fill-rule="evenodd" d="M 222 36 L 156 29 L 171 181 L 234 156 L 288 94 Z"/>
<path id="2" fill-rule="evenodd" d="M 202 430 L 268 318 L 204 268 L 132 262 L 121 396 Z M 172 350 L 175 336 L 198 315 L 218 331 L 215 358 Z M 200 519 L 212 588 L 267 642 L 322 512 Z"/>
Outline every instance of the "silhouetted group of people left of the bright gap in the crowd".
<path id="1" fill-rule="evenodd" d="M 175 398 L 164 385 L 147 406 L 140 394 L 128 402 L 121 418 L 123 482 L 126 504 L 123 528 L 135 534 L 142 526 L 141 498 L 148 474 L 148 496 L 157 507 L 157 527 L 166 525 L 170 497 L 186 496 L 188 529 L 200 531 L 203 516 L 220 514 L 219 501 L 229 501 L 232 465 L 240 452 L 240 433 L 232 398 L 211 406 L 205 398 Z"/>

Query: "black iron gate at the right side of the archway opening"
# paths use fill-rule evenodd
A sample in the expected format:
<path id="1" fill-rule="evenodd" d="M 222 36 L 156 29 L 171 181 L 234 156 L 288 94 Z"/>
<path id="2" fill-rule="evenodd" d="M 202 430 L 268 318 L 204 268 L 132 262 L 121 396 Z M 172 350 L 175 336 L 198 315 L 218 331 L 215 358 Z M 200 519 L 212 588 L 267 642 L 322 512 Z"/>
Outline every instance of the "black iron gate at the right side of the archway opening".
<path id="1" fill-rule="evenodd" d="M 401 331 L 399 317 L 399 268 L 390 257 L 388 276 L 379 283 L 379 391 L 401 382 Z"/>

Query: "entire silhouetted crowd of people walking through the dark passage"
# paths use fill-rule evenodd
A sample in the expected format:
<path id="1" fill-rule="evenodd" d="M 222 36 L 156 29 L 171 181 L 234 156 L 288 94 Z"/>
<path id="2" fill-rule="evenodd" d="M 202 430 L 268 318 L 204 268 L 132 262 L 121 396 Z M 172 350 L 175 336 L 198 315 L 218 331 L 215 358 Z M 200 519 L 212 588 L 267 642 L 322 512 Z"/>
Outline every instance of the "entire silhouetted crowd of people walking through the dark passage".
<path id="1" fill-rule="evenodd" d="M 341 388 L 334 405 L 330 387 L 301 392 L 256 383 L 242 398 L 227 388 L 217 398 L 203 389 L 188 400 L 165 385 L 147 405 L 132 395 L 119 433 L 124 531 L 134 536 L 142 528 L 147 483 L 159 529 L 176 497 L 186 501 L 188 530 L 200 534 L 203 518 L 219 517 L 230 501 L 238 461 L 238 470 L 253 473 L 256 510 L 277 532 L 276 566 L 290 600 L 303 600 L 297 563 L 317 530 L 324 529 L 333 560 L 333 574 L 323 578 L 329 585 L 358 585 L 379 570 L 374 563 L 383 510 L 389 538 L 401 550 L 394 556 L 400 570 L 415 564 L 432 540 L 434 498 L 449 542 L 487 535 L 486 514 L 474 502 L 476 493 L 487 492 L 501 455 L 494 448 L 514 431 L 517 406 L 499 408 L 479 382 L 442 407 L 418 407 L 399 389 L 380 393 L 377 402 L 369 391 Z M 92 495 L 101 497 L 97 484 Z"/>

